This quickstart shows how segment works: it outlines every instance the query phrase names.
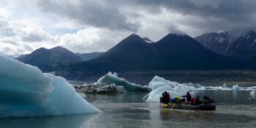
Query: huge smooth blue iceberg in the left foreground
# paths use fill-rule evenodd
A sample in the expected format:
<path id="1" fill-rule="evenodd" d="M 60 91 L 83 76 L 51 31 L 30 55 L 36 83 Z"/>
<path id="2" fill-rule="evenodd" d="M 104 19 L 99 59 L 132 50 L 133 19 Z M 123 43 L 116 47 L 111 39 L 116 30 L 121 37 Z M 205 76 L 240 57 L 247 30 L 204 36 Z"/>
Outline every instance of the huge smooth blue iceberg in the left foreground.
<path id="1" fill-rule="evenodd" d="M 98 113 L 64 78 L 0 56 L 0 117 Z"/>

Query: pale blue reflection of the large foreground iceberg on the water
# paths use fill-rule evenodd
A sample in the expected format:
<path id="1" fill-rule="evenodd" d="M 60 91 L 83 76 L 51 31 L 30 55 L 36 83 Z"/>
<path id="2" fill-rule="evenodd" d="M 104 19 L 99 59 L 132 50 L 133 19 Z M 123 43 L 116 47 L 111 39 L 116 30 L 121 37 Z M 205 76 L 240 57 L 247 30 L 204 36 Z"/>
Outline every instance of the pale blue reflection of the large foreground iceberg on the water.
<path id="1" fill-rule="evenodd" d="M 97 114 L 81 114 L 74 116 L 53 116 L 38 118 L 0 118 L 0 127 L 4 128 L 77 128 L 90 121 Z"/>

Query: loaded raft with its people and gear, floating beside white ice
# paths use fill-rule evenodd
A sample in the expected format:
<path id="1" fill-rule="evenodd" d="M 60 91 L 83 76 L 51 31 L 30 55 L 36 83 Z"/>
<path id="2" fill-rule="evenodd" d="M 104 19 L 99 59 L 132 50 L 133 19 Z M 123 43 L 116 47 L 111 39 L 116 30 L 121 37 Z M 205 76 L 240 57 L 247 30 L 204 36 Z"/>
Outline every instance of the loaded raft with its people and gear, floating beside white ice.
<path id="1" fill-rule="evenodd" d="M 200 101 L 199 96 L 192 98 L 189 92 L 185 96 L 176 96 L 172 99 L 170 98 L 170 94 L 165 91 L 162 93 L 162 97 L 160 97 L 160 106 L 171 109 L 216 110 L 214 102 L 214 99 L 206 96 L 203 96 L 203 101 Z"/>

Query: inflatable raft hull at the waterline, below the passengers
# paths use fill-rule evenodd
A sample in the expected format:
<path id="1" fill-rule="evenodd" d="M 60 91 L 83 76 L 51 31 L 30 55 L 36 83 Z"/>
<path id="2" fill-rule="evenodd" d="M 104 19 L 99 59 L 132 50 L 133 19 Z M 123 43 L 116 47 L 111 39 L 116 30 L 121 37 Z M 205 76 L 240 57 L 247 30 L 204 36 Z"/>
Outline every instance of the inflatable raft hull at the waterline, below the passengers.
<path id="1" fill-rule="evenodd" d="M 184 105 L 184 104 L 161 104 L 162 108 L 187 109 L 187 110 L 216 110 L 213 103 L 200 105 Z"/>

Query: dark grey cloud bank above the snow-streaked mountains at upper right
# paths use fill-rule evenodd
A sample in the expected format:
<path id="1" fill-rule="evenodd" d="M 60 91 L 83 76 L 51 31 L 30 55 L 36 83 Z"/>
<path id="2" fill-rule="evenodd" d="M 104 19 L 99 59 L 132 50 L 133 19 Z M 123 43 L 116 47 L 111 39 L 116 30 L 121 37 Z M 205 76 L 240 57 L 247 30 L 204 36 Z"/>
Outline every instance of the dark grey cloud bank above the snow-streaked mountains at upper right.
<path id="1" fill-rule="evenodd" d="M 202 29 L 256 29 L 255 0 L 134 0 L 137 4 L 164 7 L 188 19 L 184 24 Z M 195 20 L 194 18 L 199 18 Z"/>

